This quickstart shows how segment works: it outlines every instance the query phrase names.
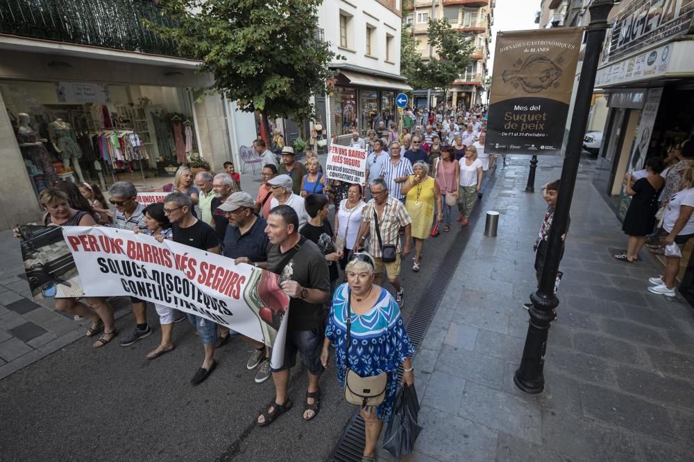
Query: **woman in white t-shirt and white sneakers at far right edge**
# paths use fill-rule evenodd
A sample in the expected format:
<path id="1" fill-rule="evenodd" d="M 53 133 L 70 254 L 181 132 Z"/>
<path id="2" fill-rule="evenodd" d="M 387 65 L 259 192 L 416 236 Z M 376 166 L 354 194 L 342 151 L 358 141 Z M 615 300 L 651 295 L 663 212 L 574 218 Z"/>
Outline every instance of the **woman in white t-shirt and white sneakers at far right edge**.
<path id="1" fill-rule="evenodd" d="M 668 202 L 663 217 L 663 229 L 668 233 L 665 238 L 665 274 L 650 278 L 648 292 L 665 296 L 675 296 L 675 278 L 679 273 L 679 259 L 682 258 L 682 247 L 694 237 L 694 167 L 682 172 L 682 183 L 679 193 Z"/>

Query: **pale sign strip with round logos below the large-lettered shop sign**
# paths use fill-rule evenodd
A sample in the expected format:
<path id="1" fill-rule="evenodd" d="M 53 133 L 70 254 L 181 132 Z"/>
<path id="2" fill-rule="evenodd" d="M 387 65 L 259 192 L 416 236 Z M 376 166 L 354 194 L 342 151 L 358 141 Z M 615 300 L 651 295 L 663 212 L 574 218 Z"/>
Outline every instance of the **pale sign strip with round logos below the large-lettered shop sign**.
<path id="1" fill-rule="evenodd" d="M 598 69 L 595 75 L 595 87 L 604 87 L 617 83 L 653 78 L 668 71 L 670 55 L 674 44 L 663 45 L 627 60 Z"/>

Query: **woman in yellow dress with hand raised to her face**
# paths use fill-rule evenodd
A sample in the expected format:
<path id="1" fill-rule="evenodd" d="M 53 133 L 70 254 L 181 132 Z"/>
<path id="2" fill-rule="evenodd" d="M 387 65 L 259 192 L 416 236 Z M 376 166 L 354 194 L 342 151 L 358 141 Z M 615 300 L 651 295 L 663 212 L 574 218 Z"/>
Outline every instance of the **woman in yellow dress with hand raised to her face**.
<path id="1" fill-rule="evenodd" d="M 430 236 L 432 221 L 434 220 L 434 201 L 436 201 L 439 215 L 437 220 L 443 220 L 443 207 L 441 204 L 441 191 L 439 185 L 430 176 L 429 164 L 418 161 L 412 166 L 414 175 L 409 175 L 403 183 L 401 192 L 407 195 L 405 208 L 412 217 L 412 238 L 414 238 L 414 263 L 412 271 L 418 272 L 422 258 L 424 240 Z"/>

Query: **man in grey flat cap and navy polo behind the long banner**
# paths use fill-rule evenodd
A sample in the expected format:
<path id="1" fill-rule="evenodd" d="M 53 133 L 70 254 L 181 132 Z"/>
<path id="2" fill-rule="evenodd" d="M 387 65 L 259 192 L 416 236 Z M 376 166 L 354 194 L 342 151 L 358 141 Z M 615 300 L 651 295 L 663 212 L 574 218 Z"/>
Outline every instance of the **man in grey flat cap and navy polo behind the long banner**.
<path id="1" fill-rule="evenodd" d="M 248 193 L 233 193 L 218 207 L 226 213 L 229 226 L 224 236 L 222 255 L 234 258 L 235 263 L 248 263 L 265 269 L 267 267 L 267 248 L 269 240 L 265 233 L 267 222 L 255 215 L 255 200 Z M 224 338 L 224 337 L 222 337 Z M 228 338 L 228 337 L 226 337 Z M 244 337 L 244 340 L 255 346 L 255 351 L 248 359 L 246 368 L 254 369 L 260 364 L 255 374 L 255 382 L 262 383 L 270 378 L 270 355 L 265 344 Z M 261 364 L 262 363 L 262 364 Z"/>

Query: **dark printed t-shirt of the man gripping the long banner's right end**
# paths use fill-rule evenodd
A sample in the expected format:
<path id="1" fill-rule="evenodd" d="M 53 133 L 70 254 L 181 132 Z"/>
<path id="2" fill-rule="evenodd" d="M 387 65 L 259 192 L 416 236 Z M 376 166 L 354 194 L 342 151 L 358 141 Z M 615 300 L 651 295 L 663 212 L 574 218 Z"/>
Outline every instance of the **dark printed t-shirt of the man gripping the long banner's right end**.
<path id="1" fill-rule="evenodd" d="M 301 287 L 330 292 L 328 263 L 313 242 L 301 236 L 298 251 L 289 249 L 280 253 L 279 245 L 270 245 L 267 255 L 267 269 L 280 275 L 282 281 L 296 281 Z M 289 253 L 293 253 L 287 261 Z M 323 303 L 308 303 L 299 298 L 289 299 L 289 330 L 313 330 L 323 326 Z"/>

